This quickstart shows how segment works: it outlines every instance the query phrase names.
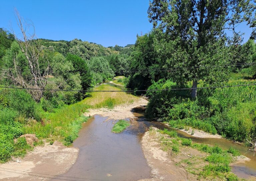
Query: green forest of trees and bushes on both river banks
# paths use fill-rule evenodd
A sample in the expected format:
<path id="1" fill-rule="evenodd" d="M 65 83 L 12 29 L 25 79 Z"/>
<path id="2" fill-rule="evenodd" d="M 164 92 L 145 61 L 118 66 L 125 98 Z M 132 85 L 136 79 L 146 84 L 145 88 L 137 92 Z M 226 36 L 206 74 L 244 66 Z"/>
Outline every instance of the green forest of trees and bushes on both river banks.
<path id="1" fill-rule="evenodd" d="M 19 138 L 25 133 L 71 144 L 85 119 L 80 115 L 89 108 L 81 103 L 92 96 L 88 91 L 115 76 L 125 76 L 117 83 L 149 99 L 149 118 L 220 134 L 254 149 L 256 32 L 244 40 L 234 27 L 256 26 L 255 5 L 193 2 L 152 1 L 153 29 L 125 47 L 37 39 L 22 21 L 22 37 L 0 28 L 0 161 L 26 154 L 30 147 Z M 200 13 L 205 19 L 198 21 Z M 115 105 L 105 101 L 102 107 Z"/>

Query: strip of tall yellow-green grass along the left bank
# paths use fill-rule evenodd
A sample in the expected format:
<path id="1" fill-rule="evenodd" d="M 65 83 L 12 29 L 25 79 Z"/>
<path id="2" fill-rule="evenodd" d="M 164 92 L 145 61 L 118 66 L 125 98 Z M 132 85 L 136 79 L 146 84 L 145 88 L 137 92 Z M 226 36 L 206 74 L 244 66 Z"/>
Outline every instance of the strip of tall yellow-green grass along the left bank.
<path id="1" fill-rule="evenodd" d="M 100 85 L 94 90 L 121 90 L 109 85 Z M 112 108 L 116 105 L 132 103 L 138 97 L 124 92 L 92 92 L 84 100 L 58 109 L 55 113 L 45 116 L 43 122 L 23 127 L 24 133 L 35 133 L 40 139 L 61 140 L 70 144 L 78 136 L 81 124 L 87 120 L 83 116 L 89 108 Z"/>

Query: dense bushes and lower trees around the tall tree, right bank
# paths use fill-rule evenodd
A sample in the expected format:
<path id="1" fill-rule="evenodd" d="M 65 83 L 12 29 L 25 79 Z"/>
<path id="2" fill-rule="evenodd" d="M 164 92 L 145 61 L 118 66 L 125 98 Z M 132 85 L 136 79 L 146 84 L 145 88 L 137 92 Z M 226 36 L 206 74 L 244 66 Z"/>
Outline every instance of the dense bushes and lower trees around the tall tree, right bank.
<path id="1" fill-rule="evenodd" d="M 130 69 L 135 71 L 128 74 L 126 86 L 132 90 L 191 88 L 192 79 L 189 77 L 195 69 L 170 67 L 169 61 L 172 60 L 168 60 L 167 56 L 161 57 L 156 50 L 155 44 L 159 41 L 155 39 L 156 36 L 155 32 L 151 32 L 137 38 L 130 64 Z M 196 69 L 202 74 L 205 71 L 208 74 L 198 81 L 198 87 L 256 83 L 256 66 L 251 65 L 256 62 L 254 40 L 249 39 L 237 45 L 239 56 L 236 57 L 233 45 L 214 46 L 216 49 L 224 49 L 221 51 L 227 55 L 221 55 L 223 62 L 220 65 L 212 67 L 210 64 L 202 64 L 202 67 Z M 148 91 L 146 95 L 150 97 L 146 112 L 156 120 L 169 122 L 179 129 L 189 126 L 212 134 L 219 133 L 240 142 L 256 141 L 255 86 L 198 89 L 196 98 L 191 98 L 189 89 Z"/>

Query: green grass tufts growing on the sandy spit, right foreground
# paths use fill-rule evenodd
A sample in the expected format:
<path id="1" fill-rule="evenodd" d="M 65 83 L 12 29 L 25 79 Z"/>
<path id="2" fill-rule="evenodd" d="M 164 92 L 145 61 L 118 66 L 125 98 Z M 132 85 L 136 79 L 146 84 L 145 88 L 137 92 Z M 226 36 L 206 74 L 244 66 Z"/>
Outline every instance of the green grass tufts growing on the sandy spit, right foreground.
<path id="1" fill-rule="evenodd" d="M 154 129 L 151 129 L 153 132 Z M 158 141 L 161 144 L 162 150 L 171 153 L 183 153 L 187 147 L 197 149 L 206 153 L 206 156 L 192 156 L 185 158 L 176 163 L 177 166 L 181 163 L 186 163 L 185 169 L 197 176 L 198 180 L 228 180 L 238 181 L 239 179 L 231 172 L 230 163 L 233 161 L 234 156 L 240 155 L 238 150 L 230 148 L 223 150 L 218 145 L 210 146 L 207 144 L 193 143 L 191 139 L 180 138 L 176 136 L 173 131 L 167 129 L 158 130 L 160 134 L 157 135 Z M 156 133 L 156 131 L 155 131 Z M 153 133 L 151 133 L 153 134 Z M 184 155 L 186 157 L 186 155 Z"/>

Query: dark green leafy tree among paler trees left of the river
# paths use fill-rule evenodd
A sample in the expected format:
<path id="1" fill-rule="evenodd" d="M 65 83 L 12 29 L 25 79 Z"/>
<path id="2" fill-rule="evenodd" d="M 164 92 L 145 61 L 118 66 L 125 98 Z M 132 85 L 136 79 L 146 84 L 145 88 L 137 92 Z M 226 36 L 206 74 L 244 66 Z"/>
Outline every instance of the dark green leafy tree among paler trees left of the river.
<path id="1" fill-rule="evenodd" d="M 70 53 L 67 54 L 66 60 L 72 62 L 74 70 L 80 73 L 82 89 L 88 90 L 91 87 L 92 76 L 85 60 Z"/>

